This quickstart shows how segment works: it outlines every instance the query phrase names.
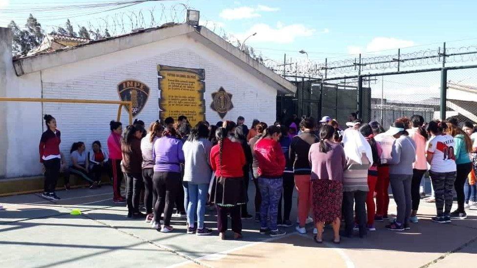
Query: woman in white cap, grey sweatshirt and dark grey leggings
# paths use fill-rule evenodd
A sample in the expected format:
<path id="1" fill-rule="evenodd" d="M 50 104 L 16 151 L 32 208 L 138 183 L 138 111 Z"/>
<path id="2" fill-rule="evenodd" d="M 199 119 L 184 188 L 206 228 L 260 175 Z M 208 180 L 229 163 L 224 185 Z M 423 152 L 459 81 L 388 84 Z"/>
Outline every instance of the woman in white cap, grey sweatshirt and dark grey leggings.
<path id="1" fill-rule="evenodd" d="M 409 217 L 412 211 L 411 183 L 412 164 L 416 158 L 416 144 L 409 137 L 405 125 L 395 122 L 387 131 L 388 136 L 396 138 L 392 144 L 390 165 L 390 184 L 392 196 L 397 205 L 397 217 L 394 222 L 387 225 L 389 230 L 402 231 L 410 229 Z"/>

